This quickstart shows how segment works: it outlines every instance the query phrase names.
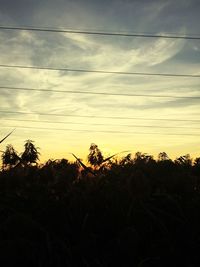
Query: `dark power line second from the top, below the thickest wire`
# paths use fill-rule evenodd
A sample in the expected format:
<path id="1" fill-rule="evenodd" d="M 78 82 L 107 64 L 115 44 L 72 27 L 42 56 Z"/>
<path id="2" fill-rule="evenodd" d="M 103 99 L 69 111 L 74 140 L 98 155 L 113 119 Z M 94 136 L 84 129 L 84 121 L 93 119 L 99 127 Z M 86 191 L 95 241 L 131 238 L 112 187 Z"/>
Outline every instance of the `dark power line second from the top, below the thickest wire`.
<path id="1" fill-rule="evenodd" d="M 81 72 L 81 73 L 115 74 L 115 75 L 138 75 L 138 76 L 163 76 L 163 77 L 200 78 L 200 75 L 198 75 L 198 74 L 197 75 L 193 75 L 193 74 L 173 74 L 173 73 L 123 72 L 123 71 L 86 70 L 86 69 L 54 68 L 54 67 L 8 65 L 8 64 L 0 64 L 0 67 L 1 68 L 17 68 L 17 69 L 34 69 L 34 70 Z"/>

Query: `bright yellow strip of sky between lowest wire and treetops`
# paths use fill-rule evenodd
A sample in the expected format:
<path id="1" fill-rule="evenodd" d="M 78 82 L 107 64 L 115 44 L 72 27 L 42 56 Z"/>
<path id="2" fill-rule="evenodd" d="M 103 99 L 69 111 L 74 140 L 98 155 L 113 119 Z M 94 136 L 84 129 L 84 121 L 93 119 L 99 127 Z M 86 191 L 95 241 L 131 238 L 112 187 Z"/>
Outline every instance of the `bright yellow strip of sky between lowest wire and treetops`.
<path id="1" fill-rule="evenodd" d="M 5 129 L 4 129 L 5 132 Z M 40 162 L 44 163 L 48 159 L 66 158 L 75 161 L 71 153 L 77 157 L 87 161 L 89 147 L 91 143 L 98 145 L 105 157 L 122 151 L 118 157 L 123 157 L 128 153 L 133 156 L 136 152 L 147 153 L 153 155 L 156 159 L 160 152 L 165 151 L 172 159 L 181 155 L 190 154 L 192 158 L 199 157 L 199 147 L 197 142 L 190 137 L 182 136 L 153 136 L 153 135 L 127 135 L 121 134 L 94 134 L 91 133 L 56 133 L 43 132 L 42 136 L 38 136 L 38 132 L 27 131 L 26 133 L 17 129 L 7 140 L 1 144 L 1 150 L 5 150 L 7 144 L 12 144 L 18 153 L 24 149 L 24 141 L 31 139 L 36 147 L 39 147 Z M 24 139 L 22 139 L 24 137 Z M 23 140 L 23 141 L 21 141 Z M 46 142 L 48 140 L 48 142 Z"/>

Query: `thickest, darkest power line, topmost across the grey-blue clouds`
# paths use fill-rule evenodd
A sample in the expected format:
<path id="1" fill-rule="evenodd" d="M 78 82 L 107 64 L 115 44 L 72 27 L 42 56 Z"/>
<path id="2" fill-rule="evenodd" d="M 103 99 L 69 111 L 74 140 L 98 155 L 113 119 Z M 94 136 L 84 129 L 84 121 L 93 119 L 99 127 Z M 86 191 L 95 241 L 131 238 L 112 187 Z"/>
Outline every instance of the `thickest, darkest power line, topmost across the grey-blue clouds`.
<path id="1" fill-rule="evenodd" d="M 36 32 L 52 32 L 52 33 L 70 33 L 70 34 L 86 34 L 86 35 L 102 35 L 102 36 L 120 36 L 120 37 L 140 37 L 140 38 L 165 38 L 165 39 L 186 39 L 200 40 L 198 36 L 187 35 L 166 35 L 166 34 L 145 34 L 145 33 L 120 33 L 120 32 L 104 32 L 104 31 L 84 31 L 84 30 L 67 30 L 61 28 L 42 28 L 42 27 L 19 27 L 19 26 L 0 26 L 0 30 L 14 31 L 36 31 Z"/>

